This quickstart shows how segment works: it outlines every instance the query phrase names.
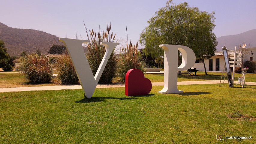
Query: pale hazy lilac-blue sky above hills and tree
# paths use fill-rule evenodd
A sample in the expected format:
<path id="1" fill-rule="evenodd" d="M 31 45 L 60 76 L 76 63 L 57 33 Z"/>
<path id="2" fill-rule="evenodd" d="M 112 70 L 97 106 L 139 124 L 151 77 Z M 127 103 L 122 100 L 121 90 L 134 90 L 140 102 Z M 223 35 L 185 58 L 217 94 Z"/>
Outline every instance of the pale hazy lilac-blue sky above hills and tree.
<path id="1" fill-rule="evenodd" d="M 111 30 L 118 39 L 136 43 L 147 21 L 166 0 L 0 0 L 0 22 L 12 28 L 36 29 L 62 38 L 87 40 L 83 21 L 87 28 L 98 31 Z M 173 0 L 179 4 L 188 2 L 190 7 L 215 12 L 214 33 L 218 37 L 235 35 L 256 29 L 255 0 Z M 81 37 L 82 38 L 81 38 Z M 121 42 L 122 43 L 122 42 Z"/>

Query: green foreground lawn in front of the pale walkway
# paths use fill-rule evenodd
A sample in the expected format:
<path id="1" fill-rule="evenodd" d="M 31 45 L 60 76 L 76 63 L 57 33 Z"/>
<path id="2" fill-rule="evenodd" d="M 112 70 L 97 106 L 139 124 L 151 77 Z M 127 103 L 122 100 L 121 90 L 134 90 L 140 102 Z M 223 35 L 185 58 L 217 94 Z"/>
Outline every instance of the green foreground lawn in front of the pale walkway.
<path id="1" fill-rule="evenodd" d="M 255 143 L 256 86 L 178 85 L 180 94 L 127 97 L 125 88 L 0 93 L 0 143 Z M 252 136 L 217 141 L 216 135 Z"/>

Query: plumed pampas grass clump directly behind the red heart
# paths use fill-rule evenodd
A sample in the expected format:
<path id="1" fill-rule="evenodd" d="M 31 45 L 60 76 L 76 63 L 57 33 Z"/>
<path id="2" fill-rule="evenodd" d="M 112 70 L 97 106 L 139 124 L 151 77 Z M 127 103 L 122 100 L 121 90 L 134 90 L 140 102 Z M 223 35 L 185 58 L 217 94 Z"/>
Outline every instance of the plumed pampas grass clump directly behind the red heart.
<path id="1" fill-rule="evenodd" d="M 145 64 L 141 60 L 140 52 L 138 51 L 138 43 L 133 45 L 130 42 L 129 45 L 126 44 L 126 47 L 122 47 L 120 57 L 117 73 L 121 81 L 125 82 L 125 75 L 130 69 L 136 68 L 140 69 L 143 73 L 145 72 Z"/>

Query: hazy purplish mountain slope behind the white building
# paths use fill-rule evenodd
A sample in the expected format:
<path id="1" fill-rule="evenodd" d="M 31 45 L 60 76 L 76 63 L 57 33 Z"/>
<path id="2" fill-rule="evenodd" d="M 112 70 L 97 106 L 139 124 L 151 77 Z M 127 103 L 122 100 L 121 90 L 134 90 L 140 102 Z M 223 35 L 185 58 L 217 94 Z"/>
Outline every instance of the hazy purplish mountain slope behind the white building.
<path id="1" fill-rule="evenodd" d="M 256 47 L 256 29 L 243 32 L 238 35 L 227 35 L 217 38 L 218 46 L 217 51 L 222 51 L 222 47 L 225 46 L 227 49 L 235 49 L 235 46 L 242 45 L 245 42 L 250 47 Z"/>

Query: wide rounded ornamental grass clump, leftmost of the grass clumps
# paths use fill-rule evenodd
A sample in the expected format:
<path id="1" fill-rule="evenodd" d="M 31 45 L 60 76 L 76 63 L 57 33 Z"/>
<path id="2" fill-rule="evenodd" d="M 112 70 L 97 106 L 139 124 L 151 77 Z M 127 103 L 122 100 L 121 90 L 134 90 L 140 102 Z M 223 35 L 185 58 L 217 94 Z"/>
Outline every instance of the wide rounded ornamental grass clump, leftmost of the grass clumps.
<path id="1" fill-rule="evenodd" d="M 20 58 L 22 73 L 30 83 L 50 83 L 52 81 L 52 65 L 47 57 L 37 53 Z"/>

